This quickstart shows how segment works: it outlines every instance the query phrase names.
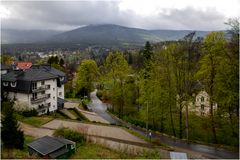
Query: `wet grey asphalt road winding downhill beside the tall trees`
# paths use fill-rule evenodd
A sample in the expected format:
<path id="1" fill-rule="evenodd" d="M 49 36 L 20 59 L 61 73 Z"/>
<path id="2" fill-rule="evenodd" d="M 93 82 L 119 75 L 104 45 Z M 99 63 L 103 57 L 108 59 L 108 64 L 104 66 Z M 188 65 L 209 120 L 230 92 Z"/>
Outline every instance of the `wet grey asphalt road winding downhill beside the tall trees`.
<path id="1" fill-rule="evenodd" d="M 116 117 L 110 116 L 106 110 L 107 107 L 105 104 L 103 104 L 98 97 L 96 96 L 97 90 L 91 93 L 91 99 L 93 103 L 91 104 L 91 108 L 94 112 L 96 112 L 98 115 L 103 117 L 104 119 L 108 120 L 110 123 L 116 123 L 121 124 L 123 126 L 127 126 L 128 128 L 138 132 L 139 134 L 146 135 L 146 130 L 136 127 L 134 125 L 131 125 L 129 123 L 126 123 L 122 120 L 117 119 Z M 182 140 L 174 140 L 168 136 L 158 134 L 158 133 L 152 133 L 152 137 L 159 139 L 159 141 L 162 144 L 166 144 L 168 146 L 184 149 L 188 151 L 193 151 L 200 153 L 208 158 L 227 158 L 227 159 L 238 159 L 239 153 L 227 151 L 224 149 L 219 149 L 207 145 L 201 145 L 201 144 L 195 144 L 195 143 L 186 143 Z"/>

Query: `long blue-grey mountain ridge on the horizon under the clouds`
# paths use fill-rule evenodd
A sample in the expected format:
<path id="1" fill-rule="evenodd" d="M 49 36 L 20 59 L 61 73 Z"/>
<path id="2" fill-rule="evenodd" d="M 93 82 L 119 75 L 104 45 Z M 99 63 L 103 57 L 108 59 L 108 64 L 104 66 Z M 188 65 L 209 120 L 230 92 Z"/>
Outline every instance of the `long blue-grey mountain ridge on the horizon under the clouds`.
<path id="1" fill-rule="evenodd" d="M 2 42 L 8 39 L 9 44 L 13 43 L 72 43 L 100 46 L 142 46 L 146 41 L 152 43 L 178 40 L 193 30 L 147 30 L 131 28 L 115 24 L 97 24 L 76 28 L 70 31 L 41 31 L 32 32 L 30 36 L 27 31 L 13 32 L 14 36 L 2 32 Z M 210 31 L 196 31 L 196 35 L 204 37 Z M 20 36 L 18 36 L 20 35 Z M 10 38 L 9 38 L 10 37 Z M 22 38 L 23 37 L 23 38 Z M 9 40 L 10 39 L 10 40 Z M 12 42 L 13 43 L 12 43 Z"/>

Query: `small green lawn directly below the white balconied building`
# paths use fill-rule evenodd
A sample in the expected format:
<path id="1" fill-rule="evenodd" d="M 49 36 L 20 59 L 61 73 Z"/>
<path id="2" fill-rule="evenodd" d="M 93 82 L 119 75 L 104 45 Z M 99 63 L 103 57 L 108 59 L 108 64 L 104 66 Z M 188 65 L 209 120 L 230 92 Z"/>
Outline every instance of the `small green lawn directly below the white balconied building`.
<path id="1" fill-rule="evenodd" d="M 23 123 L 30 124 L 35 127 L 40 127 L 41 125 L 53 120 L 53 116 L 34 116 L 34 117 L 24 117 L 22 115 L 17 115 L 17 120 Z"/>

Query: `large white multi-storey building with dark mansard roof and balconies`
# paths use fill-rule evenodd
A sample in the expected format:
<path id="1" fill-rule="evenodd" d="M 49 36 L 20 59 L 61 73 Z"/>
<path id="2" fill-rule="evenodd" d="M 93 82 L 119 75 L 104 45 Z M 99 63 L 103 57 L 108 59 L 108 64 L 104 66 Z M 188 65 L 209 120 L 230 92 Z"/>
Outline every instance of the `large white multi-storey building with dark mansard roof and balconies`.
<path id="1" fill-rule="evenodd" d="M 16 100 L 16 106 L 34 108 L 39 114 L 63 108 L 66 76 L 49 65 L 10 70 L 1 80 L 2 91 Z"/>

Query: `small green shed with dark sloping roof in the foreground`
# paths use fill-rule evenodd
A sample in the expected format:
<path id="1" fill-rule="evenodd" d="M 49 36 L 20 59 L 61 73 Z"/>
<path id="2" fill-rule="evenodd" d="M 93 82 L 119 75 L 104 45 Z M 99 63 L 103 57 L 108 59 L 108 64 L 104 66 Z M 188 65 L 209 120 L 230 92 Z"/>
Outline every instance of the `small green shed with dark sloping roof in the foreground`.
<path id="1" fill-rule="evenodd" d="M 65 159 L 75 152 L 76 143 L 64 138 L 44 136 L 27 146 L 30 156 Z"/>

